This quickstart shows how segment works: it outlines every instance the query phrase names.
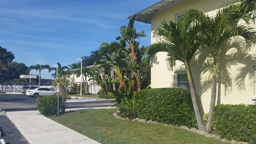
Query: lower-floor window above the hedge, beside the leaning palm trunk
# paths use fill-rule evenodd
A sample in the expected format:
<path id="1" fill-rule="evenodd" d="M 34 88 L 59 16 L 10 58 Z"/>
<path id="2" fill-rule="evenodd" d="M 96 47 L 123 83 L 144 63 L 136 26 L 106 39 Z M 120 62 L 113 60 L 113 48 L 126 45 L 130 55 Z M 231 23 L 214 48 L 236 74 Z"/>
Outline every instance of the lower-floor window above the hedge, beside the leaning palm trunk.
<path id="1" fill-rule="evenodd" d="M 190 89 L 186 72 L 176 72 L 176 88 Z"/>

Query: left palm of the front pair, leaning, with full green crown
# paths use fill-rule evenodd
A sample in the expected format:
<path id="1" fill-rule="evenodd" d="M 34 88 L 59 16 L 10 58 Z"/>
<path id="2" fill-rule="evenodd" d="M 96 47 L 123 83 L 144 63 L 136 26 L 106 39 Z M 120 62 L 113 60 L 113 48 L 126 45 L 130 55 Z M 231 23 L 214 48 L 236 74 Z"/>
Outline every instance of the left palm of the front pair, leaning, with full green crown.
<path id="1" fill-rule="evenodd" d="M 195 18 L 200 18 L 200 20 Z M 160 27 L 156 28 L 153 33 L 159 41 L 152 44 L 147 51 L 147 57 L 151 60 L 154 60 L 158 52 L 167 52 L 168 70 L 176 66 L 176 60 L 184 63 L 198 128 L 202 131 L 206 129 L 198 108 L 190 62 L 196 50 L 203 45 L 202 35 L 208 29 L 208 20 L 203 12 L 190 8 L 183 13 L 177 23 L 161 22 Z"/>

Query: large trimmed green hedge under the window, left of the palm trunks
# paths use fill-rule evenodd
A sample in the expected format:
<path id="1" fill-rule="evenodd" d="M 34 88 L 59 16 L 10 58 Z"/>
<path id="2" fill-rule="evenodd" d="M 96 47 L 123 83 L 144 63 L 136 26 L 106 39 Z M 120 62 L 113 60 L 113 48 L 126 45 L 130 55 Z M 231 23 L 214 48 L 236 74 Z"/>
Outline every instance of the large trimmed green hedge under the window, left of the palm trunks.
<path id="1" fill-rule="evenodd" d="M 164 124 L 197 127 L 190 92 L 181 88 L 152 88 L 136 91 L 140 119 Z"/>

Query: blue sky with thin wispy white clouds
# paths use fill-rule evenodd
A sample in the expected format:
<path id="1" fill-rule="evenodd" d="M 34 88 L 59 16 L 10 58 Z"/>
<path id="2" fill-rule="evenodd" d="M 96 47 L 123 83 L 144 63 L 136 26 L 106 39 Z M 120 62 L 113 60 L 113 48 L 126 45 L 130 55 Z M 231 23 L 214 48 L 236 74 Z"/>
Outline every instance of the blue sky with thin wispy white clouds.
<path id="1" fill-rule="evenodd" d="M 0 0 L 0 46 L 12 52 L 14 62 L 26 66 L 57 62 L 67 66 L 89 56 L 102 42 L 116 41 L 128 16 L 160 0 Z M 140 46 L 150 45 L 151 25 L 135 22 L 145 30 Z M 42 78 L 52 78 L 48 70 Z M 38 74 L 32 70 L 32 74 Z"/>

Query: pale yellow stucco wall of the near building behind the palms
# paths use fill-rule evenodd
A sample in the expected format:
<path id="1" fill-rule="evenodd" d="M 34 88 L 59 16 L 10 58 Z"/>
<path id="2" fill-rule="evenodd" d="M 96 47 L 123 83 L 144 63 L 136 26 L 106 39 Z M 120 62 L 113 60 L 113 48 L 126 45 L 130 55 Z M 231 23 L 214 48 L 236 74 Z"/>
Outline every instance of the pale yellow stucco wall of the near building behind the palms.
<path id="1" fill-rule="evenodd" d="M 180 4 L 177 4 L 152 16 L 152 32 L 159 26 L 162 20 L 175 21 L 175 15 L 184 12 L 187 8 L 194 7 L 212 16 L 216 14 L 216 9 L 222 6 L 224 2 L 228 2 L 228 0 L 186 0 L 181 2 Z M 156 42 L 156 39 L 151 37 L 151 43 L 154 42 Z M 218 55 L 218 72 L 222 71 L 225 72 L 225 74 L 230 73 L 231 78 L 228 76 L 222 77 L 223 79 L 225 78 L 225 80 L 220 82 L 220 76 L 218 76 L 216 104 L 256 104 L 256 101 L 252 101 L 252 96 L 255 95 L 254 74 L 251 77 L 249 77 L 249 74 L 246 74 L 246 72 L 254 72 L 253 69 L 254 66 L 256 66 L 256 61 L 245 60 L 244 57 L 238 56 L 237 59 L 241 60 L 241 62 L 246 61 L 246 64 L 238 64 L 237 66 L 225 65 L 227 62 L 229 62 L 225 58 L 228 58 L 228 56 L 232 54 L 232 50 L 237 51 L 240 50 L 240 48 L 243 48 L 243 44 L 243 41 L 236 42 L 232 45 L 226 44 L 222 48 L 222 52 L 220 52 Z M 231 50 L 228 50 L 230 48 Z M 203 73 L 202 71 L 204 68 L 202 68 L 202 64 L 208 61 L 206 56 L 210 54 L 210 52 L 208 49 L 201 51 L 204 55 L 195 56 L 195 60 L 190 64 L 190 66 L 196 88 L 196 94 L 198 96 L 198 104 L 201 106 L 203 112 L 208 112 L 212 87 L 212 73 Z M 175 72 L 180 71 L 178 69 L 182 63 L 177 62 L 177 66 L 173 69 L 173 71 L 168 71 L 166 68 L 167 63 L 165 60 L 166 54 L 166 52 L 159 52 L 156 55 L 156 59 L 152 62 L 152 88 L 176 87 Z M 253 48 L 249 54 L 256 54 L 256 48 Z M 237 82 L 235 81 L 235 78 L 238 75 L 238 68 L 242 68 L 242 72 L 244 72 L 243 75 L 246 76 L 245 82 L 242 82 L 242 84 L 245 84 L 244 90 L 241 88 L 241 83 L 235 83 Z"/>

